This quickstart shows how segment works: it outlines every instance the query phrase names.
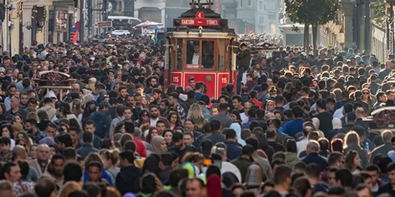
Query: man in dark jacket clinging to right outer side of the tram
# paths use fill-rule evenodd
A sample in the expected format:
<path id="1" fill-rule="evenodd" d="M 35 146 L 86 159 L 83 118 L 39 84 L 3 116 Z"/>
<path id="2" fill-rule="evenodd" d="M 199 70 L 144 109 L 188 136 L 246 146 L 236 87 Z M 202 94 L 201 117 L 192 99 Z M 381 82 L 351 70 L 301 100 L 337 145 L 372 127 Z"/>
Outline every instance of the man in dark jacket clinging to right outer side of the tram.
<path id="1" fill-rule="evenodd" d="M 239 65 L 237 67 L 237 94 L 241 91 L 240 82 L 243 80 L 243 73 L 250 67 L 251 51 L 247 47 L 246 43 L 241 43 L 240 45 L 241 53 L 237 54 L 237 59 L 239 60 Z"/>

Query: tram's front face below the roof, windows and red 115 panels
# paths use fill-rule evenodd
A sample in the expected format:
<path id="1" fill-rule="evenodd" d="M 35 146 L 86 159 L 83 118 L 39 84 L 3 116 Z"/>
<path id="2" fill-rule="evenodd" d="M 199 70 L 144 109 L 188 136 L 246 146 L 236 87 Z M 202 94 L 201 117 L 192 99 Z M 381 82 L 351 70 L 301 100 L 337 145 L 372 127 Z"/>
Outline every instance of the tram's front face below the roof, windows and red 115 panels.
<path id="1" fill-rule="evenodd" d="M 201 82 L 209 97 L 218 98 L 221 88 L 225 87 L 231 78 L 232 50 L 227 50 L 229 39 L 203 38 L 172 38 L 174 42 L 173 56 L 169 57 L 170 84 L 182 87 L 191 83 Z M 193 79 L 193 80 L 192 80 Z"/>

